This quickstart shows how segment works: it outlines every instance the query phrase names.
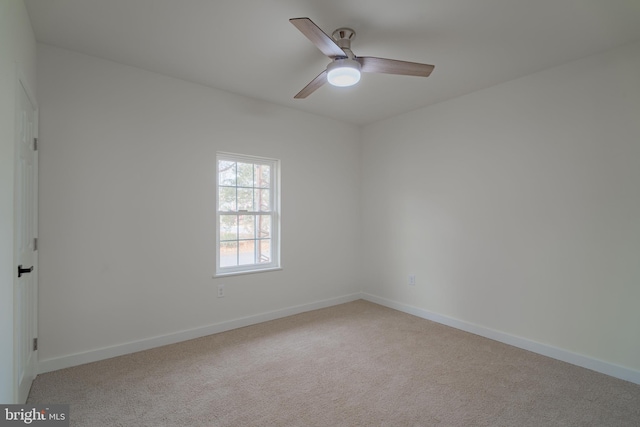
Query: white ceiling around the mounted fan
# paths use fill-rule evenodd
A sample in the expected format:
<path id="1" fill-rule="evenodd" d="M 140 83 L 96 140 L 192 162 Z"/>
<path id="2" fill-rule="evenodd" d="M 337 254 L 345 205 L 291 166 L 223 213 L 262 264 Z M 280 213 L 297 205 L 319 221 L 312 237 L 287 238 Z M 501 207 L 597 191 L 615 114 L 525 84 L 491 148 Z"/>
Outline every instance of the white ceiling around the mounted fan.
<path id="1" fill-rule="evenodd" d="M 25 0 L 38 42 L 367 124 L 640 40 L 639 0 Z M 356 55 L 434 64 L 293 96 L 325 57 L 289 18 L 351 27 Z"/>

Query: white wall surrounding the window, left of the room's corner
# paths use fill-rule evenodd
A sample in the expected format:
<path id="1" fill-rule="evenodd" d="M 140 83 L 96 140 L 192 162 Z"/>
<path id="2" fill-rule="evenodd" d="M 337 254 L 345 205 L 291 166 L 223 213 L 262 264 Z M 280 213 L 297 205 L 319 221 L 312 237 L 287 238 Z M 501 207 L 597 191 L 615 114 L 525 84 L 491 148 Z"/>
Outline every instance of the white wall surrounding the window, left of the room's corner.
<path id="1" fill-rule="evenodd" d="M 45 369 L 360 290 L 357 127 L 46 45 L 38 55 Z M 281 159 L 282 271 L 212 279 L 218 150 Z"/>

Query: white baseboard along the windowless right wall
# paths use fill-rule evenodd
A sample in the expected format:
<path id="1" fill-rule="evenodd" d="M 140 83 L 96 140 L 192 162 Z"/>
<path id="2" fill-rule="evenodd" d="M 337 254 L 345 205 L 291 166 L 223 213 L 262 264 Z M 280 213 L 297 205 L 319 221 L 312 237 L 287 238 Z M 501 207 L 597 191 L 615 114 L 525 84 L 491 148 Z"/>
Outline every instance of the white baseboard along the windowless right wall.
<path id="1" fill-rule="evenodd" d="M 393 308 L 404 313 L 412 314 L 423 319 L 431 320 L 443 325 L 470 332 L 475 335 L 490 338 L 494 341 L 499 341 L 505 344 L 512 345 L 514 347 L 532 351 L 534 353 L 551 357 L 556 360 L 571 363 L 572 365 L 581 366 L 583 368 L 600 372 L 605 375 L 609 375 L 635 384 L 640 384 L 640 372 L 630 368 L 625 368 L 624 366 L 615 365 L 613 363 L 604 362 L 602 360 L 587 357 L 582 354 L 573 353 L 571 351 L 563 350 L 561 348 L 553 347 L 547 344 L 541 344 L 539 342 L 531 341 L 525 338 L 509 335 L 504 332 L 443 316 L 428 310 L 392 301 L 376 295 L 363 293 L 362 299 L 383 305 L 385 307 Z"/>

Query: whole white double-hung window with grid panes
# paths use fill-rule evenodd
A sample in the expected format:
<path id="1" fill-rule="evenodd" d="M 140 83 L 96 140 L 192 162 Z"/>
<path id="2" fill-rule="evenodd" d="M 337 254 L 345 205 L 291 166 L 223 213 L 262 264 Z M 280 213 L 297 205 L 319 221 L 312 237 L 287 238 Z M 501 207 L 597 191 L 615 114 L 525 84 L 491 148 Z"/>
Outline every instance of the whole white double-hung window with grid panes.
<path id="1" fill-rule="evenodd" d="M 218 153 L 217 276 L 280 268 L 279 163 Z"/>

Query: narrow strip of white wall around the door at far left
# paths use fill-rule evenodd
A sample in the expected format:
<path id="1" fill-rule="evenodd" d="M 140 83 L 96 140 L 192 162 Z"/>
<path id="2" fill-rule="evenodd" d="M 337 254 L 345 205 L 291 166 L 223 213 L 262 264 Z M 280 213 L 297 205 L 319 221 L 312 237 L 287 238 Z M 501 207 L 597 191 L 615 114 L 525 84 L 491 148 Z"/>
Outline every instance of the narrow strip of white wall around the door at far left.
<path id="1" fill-rule="evenodd" d="M 13 181 L 18 74 L 36 91 L 36 42 L 22 0 L 0 0 L 0 402 L 14 403 Z M 16 402 L 17 403 L 17 402 Z"/>

